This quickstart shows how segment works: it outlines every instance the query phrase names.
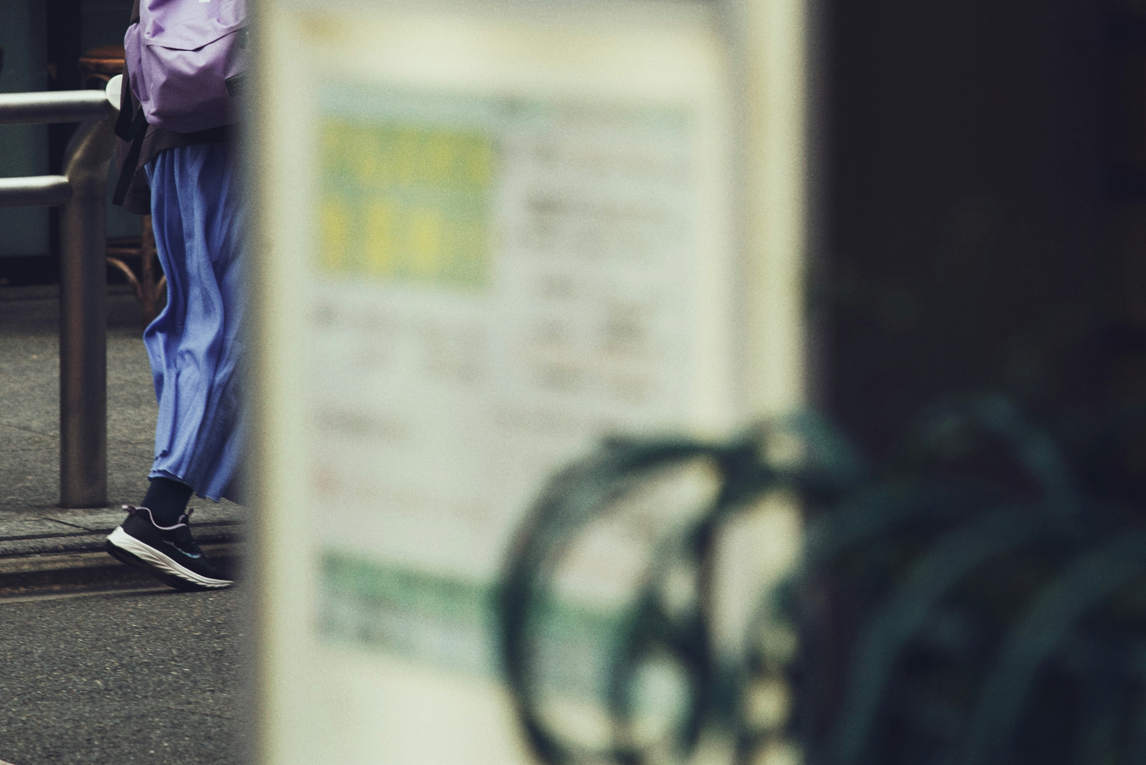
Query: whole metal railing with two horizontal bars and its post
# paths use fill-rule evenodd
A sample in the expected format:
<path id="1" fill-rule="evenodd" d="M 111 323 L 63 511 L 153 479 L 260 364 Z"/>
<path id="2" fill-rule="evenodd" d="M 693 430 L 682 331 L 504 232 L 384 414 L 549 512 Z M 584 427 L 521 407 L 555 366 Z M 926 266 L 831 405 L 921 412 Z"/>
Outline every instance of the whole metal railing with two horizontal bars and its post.
<path id="1" fill-rule="evenodd" d="M 0 124 L 81 122 L 63 175 L 0 179 L 0 206 L 60 205 L 60 505 L 108 504 L 108 163 L 121 77 L 105 91 L 0 94 Z"/>

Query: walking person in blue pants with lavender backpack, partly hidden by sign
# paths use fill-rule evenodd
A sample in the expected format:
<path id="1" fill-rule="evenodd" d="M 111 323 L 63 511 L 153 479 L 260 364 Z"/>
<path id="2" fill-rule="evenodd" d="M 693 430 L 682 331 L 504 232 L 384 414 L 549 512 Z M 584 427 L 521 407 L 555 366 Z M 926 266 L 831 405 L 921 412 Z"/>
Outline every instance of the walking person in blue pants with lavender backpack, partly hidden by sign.
<path id="1" fill-rule="evenodd" d="M 143 2 L 144 16 L 165 13 L 158 0 Z M 168 9 L 173 5 L 166 3 Z M 245 14 L 234 0 L 182 5 L 176 10 L 185 17 L 229 24 L 244 36 L 245 48 Z M 210 109 L 180 103 L 186 114 L 173 117 L 179 109 L 160 103 L 164 93 L 188 91 L 186 86 L 162 91 L 163 78 L 170 77 L 162 69 L 164 62 L 147 58 L 156 54 L 151 48 L 140 53 L 142 44 L 164 44 L 150 30 L 178 26 L 170 17 L 157 21 L 162 23 L 149 24 L 144 17 L 141 23 L 135 0 L 116 126 L 121 174 L 115 201 L 131 212 L 150 213 L 167 279 L 167 304 L 143 331 L 159 415 L 147 493 L 139 506 L 124 506 L 128 515 L 104 547 L 172 587 L 211 590 L 233 583 L 196 545 L 187 505 L 193 493 L 213 501 L 242 501 L 245 204 L 236 166 L 235 109 L 212 116 Z M 182 55 L 185 65 L 175 69 L 187 70 L 187 56 L 201 52 L 173 48 L 158 54 Z M 207 71 L 210 63 L 196 64 L 201 79 L 214 75 Z M 231 96 L 233 85 L 225 85 Z M 202 127 L 204 120 L 221 124 Z"/>

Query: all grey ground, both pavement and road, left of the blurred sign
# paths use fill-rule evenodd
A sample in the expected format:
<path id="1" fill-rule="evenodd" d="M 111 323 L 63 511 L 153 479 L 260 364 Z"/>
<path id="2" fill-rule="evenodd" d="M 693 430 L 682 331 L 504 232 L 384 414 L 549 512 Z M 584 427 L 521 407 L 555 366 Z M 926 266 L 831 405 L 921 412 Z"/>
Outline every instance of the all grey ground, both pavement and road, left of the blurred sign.
<path id="1" fill-rule="evenodd" d="M 109 505 L 56 506 L 57 315 L 50 288 L 0 287 L 0 572 L 58 563 L 74 551 L 95 549 L 77 557 L 103 560 L 103 537 L 124 517 L 119 505 L 138 504 L 147 489 L 157 411 L 151 373 L 139 306 L 131 295 L 112 295 Z M 193 521 L 201 541 L 211 533 L 233 539 L 245 513 L 203 499 L 191 507 L 198 510 Z M 242 588 L 0 596 L 0 760 L 242 762 L 244 726 L 235 712 L 242 598 Z"/>

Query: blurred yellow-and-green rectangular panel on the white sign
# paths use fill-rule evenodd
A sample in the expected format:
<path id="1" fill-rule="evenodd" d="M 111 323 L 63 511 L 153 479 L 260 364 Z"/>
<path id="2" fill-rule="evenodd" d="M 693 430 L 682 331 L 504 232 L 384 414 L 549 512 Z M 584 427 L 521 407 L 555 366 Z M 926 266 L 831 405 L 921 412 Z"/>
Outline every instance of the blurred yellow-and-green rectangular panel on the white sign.
<path id="1" fill-rule="evenodd" d="M 463 290 L 489 282 L 493 140 L 477 131 L 322 124 L 320 271 Z"/>

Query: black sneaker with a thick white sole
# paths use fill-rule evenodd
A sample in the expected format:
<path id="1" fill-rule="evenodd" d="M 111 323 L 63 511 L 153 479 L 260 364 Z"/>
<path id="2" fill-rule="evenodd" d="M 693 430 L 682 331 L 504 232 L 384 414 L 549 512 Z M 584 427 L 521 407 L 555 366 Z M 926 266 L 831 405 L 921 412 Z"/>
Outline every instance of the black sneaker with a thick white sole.
<path id="1" fill-rule="evenodd" d="M 128 565 L 148 571 L 175 590 L 218 590 L 234 584 L 207 563 L 191 539 L 188 516 L 173 526 L 160 526 L 146 507 L 124 505 L 127 520 L 111 532 L 103 548 Z"/>

